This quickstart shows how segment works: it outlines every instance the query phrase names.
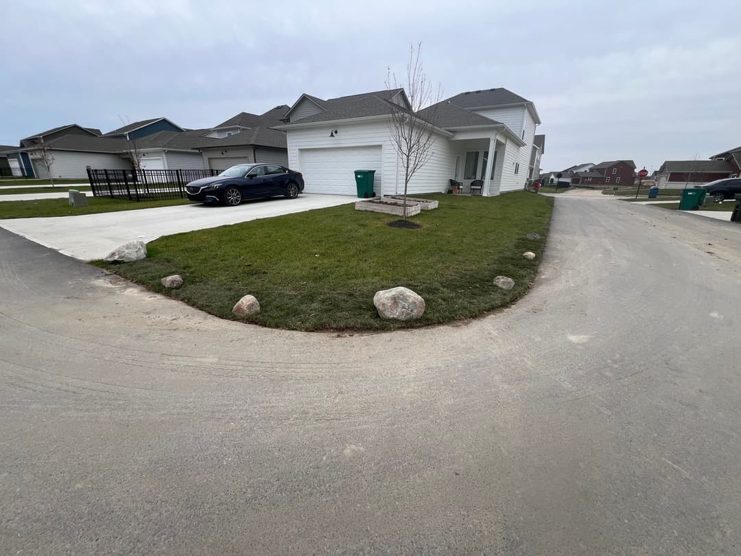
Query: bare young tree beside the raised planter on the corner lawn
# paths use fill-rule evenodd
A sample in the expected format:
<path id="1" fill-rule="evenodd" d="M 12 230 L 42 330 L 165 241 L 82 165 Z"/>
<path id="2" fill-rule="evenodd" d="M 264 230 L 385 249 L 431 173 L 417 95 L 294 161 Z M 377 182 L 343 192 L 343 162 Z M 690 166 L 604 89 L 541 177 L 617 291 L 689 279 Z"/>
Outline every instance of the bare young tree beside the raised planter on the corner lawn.
<path id="1" fill-rule="evenodd" d="M 409 180 L 434 153 L 432 147 L 435 142 L 435 125 L 433 122 L 436 109 L 431 105 L 436 105 L 442 97 L 442 87 L 438 85 L 436 92 L 433 92 L 431 82 L 422 69 L 422 62 L 419 60 L 421 50 L 421 42 L 416 47 L 413 44 L 410 45 L 405 82 L 399 83 L 396 80 L 396 74 L 391 73 L 391 68 L 386 76 L 386 88 L 388 90 L 404 89 L 409 102 L 408 107 L 403 106 L 402 101 L 391 102 L 391 119 L 388 122 L 391 141 L 404 167 L 403 219 L 405 220 L 407 219 Z M 423 108 L 428 108 L 424 113 L 424 118 L 419 117 L 419 112 Z"/>

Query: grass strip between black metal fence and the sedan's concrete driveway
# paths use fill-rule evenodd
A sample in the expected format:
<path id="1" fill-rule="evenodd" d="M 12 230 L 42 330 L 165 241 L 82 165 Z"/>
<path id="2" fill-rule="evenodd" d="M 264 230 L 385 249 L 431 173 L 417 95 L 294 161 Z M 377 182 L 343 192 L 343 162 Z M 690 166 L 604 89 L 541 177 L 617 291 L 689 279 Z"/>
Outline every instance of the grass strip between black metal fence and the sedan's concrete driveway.
<path id="1" fill-rule="evenodd" d="M 36 216 L 78 216 L 102 212 L 136 211 L 139 208 L 169 207 L 186 205 L 187 199 L 134 202 L 127 199 L 107 199 L 88 196 L 87 207 L 70 207 L 68 199 L 36 199 L 33 201 L 0 202 L 0 219 L 33 218 Z"/>

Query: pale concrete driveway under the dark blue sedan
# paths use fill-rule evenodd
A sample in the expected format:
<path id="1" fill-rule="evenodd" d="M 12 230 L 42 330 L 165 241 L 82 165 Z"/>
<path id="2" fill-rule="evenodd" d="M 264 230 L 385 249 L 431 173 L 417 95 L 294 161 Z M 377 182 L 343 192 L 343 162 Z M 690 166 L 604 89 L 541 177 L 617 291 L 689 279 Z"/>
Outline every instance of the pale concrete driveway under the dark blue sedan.
<path id="1" fill-rule="evenodd" d="M 135 239 L 150 242 L 159 236 L 345 205 L 356 200 L 346 195 L 305 193 L 297 199 L 258 199 L 238 207 L 190 204 L 84 216 L 4 219 L 0 220 L 0 228 L 70 257 L 93 260 L 102 259 L 122 243 Z"/>

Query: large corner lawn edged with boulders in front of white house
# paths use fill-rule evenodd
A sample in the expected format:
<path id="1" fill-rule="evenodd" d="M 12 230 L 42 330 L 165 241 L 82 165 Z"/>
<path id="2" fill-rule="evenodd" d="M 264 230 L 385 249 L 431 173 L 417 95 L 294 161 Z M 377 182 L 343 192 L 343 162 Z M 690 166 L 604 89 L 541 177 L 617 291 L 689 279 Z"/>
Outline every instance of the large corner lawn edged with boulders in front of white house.
<path id="1" fill-rule="evenodd" d="M 107 268 L 226 319 L 236 320 L 233 305 L 253 294 L 261 311 L 248 322 L 304 331 L 451 322 L 525 294 L 541 258 L 552 198 L 525 192 L 427 197 L 438 199 L 439 208 L 413 217 L 419 230 L 389 228 L 393 216 L 342 205 L 165 236 L 147 245 L 147 259 Z M 541 239 L 527 239 L 531 232 Z M 536 259 L 523 259 L 525 251 Z M 180 274 L 182 288 L 165 291 L 159 281 L 168 274 Z M 500 274 L 516 282 L 511 291 L 494 286 Z M 398 285 L 425 299 L 421 319 L 378 317 L 373 294 Z"/>

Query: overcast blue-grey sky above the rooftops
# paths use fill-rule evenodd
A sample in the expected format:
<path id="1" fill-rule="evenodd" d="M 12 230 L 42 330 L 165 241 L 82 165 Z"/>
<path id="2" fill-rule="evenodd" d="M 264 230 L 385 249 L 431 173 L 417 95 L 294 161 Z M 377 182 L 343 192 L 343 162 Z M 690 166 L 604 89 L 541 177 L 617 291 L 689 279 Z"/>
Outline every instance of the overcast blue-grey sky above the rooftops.
<path id="1" fill-rule="evenodd" d="M 35 0 L 3 5 L 0 144 L 68 123 L 245 111 L 384 88 L 422 42 L 445 97 L 531 99 L 544 171 L 741 145 L 741 2 Z"/>

